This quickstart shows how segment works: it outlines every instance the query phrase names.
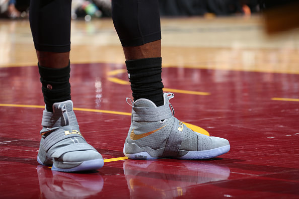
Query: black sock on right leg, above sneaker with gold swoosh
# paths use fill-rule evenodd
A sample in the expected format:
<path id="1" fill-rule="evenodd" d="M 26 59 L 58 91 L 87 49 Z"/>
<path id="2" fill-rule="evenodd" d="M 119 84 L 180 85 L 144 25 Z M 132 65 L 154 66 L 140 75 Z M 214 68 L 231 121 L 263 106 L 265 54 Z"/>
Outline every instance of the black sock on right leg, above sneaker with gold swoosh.
<path id="1" fill-rule="evenodd" d="M 162 58 L 146 58 L 126 61 L 134 101 L 150 99 L 157 107 L 164 104 L 162 88 Z"/>

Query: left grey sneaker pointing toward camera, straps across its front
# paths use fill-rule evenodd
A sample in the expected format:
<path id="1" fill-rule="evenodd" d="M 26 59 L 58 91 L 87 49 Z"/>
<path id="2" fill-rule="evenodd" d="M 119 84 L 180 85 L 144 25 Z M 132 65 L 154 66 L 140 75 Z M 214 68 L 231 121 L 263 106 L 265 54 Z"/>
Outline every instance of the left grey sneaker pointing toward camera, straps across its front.
<path id="1" fill-rule="evenodd" d="M 94 170 L 104 165 L 101 154 L 80 133 L 72 101 L 53 104 L 53 113 L 45 110 L 42 127 L 38 163 L 64 172 Z"/>

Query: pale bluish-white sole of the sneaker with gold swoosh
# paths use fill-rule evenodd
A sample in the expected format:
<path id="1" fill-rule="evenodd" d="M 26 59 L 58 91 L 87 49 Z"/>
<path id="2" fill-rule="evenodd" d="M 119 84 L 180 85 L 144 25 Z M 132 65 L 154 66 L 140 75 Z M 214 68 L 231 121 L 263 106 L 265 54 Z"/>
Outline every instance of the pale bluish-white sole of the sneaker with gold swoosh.
<path id="1" fill-rule="evenodd" d="M 231 149 L 231 145 L 226 145 L 226 146 L 222 146 L 222 147 L 218 147 L 218 148 L 210 149 L 210 150 L 205 150 L 205 151 L 189 151 L 186 155 L 183 155 L 181 157 L 176 157 L 176 159 L 182 159 L 182 160 L 209 159 L 209 158 L 213 158 L 213 157 L 217 157 L 219 155 L 225 154 L 225 153 L 229 152 L 230 149 Z M 160 157 L 152 157 L 146 151 L 139 152 L 139 153 L 126 154 L 125 150 L 123 149 L 123 153 L 129 159 L 135 159 L 135 160 L 153 160 L 153 159 L 160 158 Z"/>

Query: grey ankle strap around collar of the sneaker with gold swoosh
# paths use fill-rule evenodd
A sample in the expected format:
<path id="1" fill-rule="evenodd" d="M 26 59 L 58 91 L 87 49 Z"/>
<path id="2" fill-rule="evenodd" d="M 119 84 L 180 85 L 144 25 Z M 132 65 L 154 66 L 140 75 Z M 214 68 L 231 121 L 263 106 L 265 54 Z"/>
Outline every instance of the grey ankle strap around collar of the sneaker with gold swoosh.
<path id="1" fill-rule="evenodd" d="M 133 107 L 132 114 L 135 122 L 158 122 L 173 116 L 170 103 L 156 108 Z"/>

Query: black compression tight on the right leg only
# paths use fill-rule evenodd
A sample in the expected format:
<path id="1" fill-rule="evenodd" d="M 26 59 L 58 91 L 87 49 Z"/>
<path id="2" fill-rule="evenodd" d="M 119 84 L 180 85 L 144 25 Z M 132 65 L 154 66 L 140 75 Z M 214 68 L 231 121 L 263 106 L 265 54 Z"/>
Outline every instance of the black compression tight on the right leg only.
<path id="1" fill-rule="evenodd" d="M 161 39 L 158 0 L 112 0 L 112 19 L 122 46 Z"/>

